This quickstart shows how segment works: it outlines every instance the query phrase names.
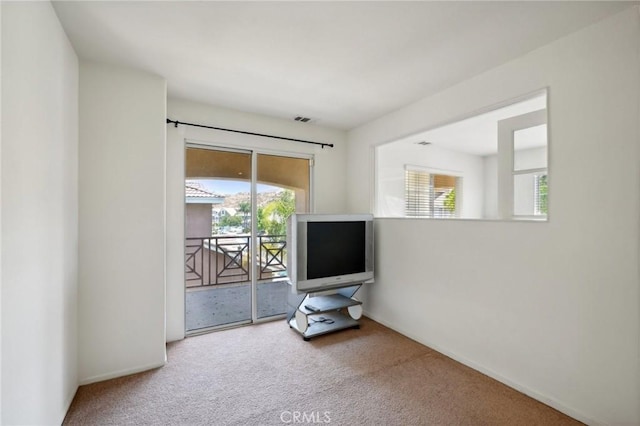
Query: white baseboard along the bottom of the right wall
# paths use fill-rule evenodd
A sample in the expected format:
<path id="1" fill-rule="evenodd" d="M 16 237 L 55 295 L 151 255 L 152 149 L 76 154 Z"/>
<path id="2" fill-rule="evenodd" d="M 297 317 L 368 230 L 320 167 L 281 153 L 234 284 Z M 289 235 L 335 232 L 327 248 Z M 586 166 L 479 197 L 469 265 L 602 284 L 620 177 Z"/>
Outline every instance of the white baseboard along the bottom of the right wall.
<path id="1" fill-rule="evenodd" d="M 472 368 L 472 369 L 474 369 L 476 371 L 479 371 L 480 373 L 482 373 L 482 374 L 484 374 L 486 376 L 489 376 L 492 379 L 495 379 L 495 380 L 499 381 L 500 383 L 505 384 L 505 385 L 509 386 L 510 388 L 517 390 L 518 392 L 521 392 L 521 393 L 523 393 L 523 394 L 525 394 L 527 396 L 530 396 L 531 398 L 533 398 L 533 399 L 535 399 L 537 401 L 540 401 L 543 404 L 548 405 L 549 407 L 554 408 L 554 409 L 560 411 L 561 413 L 566 414 L 567 416 L 572 417 L 572 418 L 574 418 L 574 419 L 576 419 L 576 420 L 578 420 L 578 421 L 580 421 L 582 423 L 585 423 L 585 424 L 591 425 L 591 426 L 605 426 L 607 424 L 607 422 L 597 421 L 597 420 L 585 415 L 584 413 L 582 413 L 582 412 L 580 412 L 580 411 L 578 411 L 578 410 L 576 410 L 574 408 L 571 408 L 566 404 L 563 404 L 562 401 L 559 401 L 559 400 L 557 400 L 555 398 L 551 398 L 551 397 L 549 397 L 547 395 L 543 395 L 543 394 L 541 394 L 541 393 L 539 393 L 539 392 L 537 392 L 537 391 L 535 391 L 535 390 L 533 390 L 533 389 L 531 389 L 531 388 L 529 388 L 527 386 L 523 386 L 522 384 L 517 383 L 517 382 L 515 382 L 515 381 L 513 381 L 513 380 L 511 380 L 511 379 L 509 379 L 507 377 L 504 377 L 504 376 L 500 375 L 499 373 L 497 373 L 497 372 L 495 372 L 495 371 L 493 371 L 493 370 L 491 370 L 489 368 L 486 368 L 486 367 L 484 367 L 484 366 L 482 366 L 482 365 L 480 365 L 480 364 L 478 364 L 478 363 L 476 363 L 476 362 L 474 362 L 474 361 L 472 361 L 470 359 L 467 359 L 467 358 L 465 358 L 463 356 L 460 356 L 455 352 L 449 351 L 448 349 L 443 348 L 438 344 L 426 341 L 425 339 L 423 339 L 421 337 L 418 337 L 418 336 L 413 335 L 412 333 L 406 332 L 405 330 L 403 330 L 402 327 L 397 327 L 395 324 L 392 324 L 390 322 L 387 322 L 387 321 L 384 321 L 384 320 L 382 320 L 380 318 L 377 318 L 375 315 L 372 315 L 368 311 L 364 311 L 364 316 L 374 320 L 375 322 L 378 322 L 378 323 L 384 325 L 385 327 L 388 327 L 388 328 L 390 328 L 390 329 L 402 334 L 403 336 L 406 336 L 406 337 L 410 338 L 411 340 L 415 340 L 416 342 L 421 343 L 421 344 L 423 344 L 423 345 L 435 350 L 436 352 L 439 352 L 439 353 L 441 353 L 443 355 L 446 355 L 447 357 L 449 357 L 449 358 L 451 358 L 451 359 L 453 359 L 453 360 L 455 360 L 455 361 L 457 361 L 457 362 L 459 362 L 461 364 L 464 364 L 467 367 L 470 367 L 470 368 Z"/>

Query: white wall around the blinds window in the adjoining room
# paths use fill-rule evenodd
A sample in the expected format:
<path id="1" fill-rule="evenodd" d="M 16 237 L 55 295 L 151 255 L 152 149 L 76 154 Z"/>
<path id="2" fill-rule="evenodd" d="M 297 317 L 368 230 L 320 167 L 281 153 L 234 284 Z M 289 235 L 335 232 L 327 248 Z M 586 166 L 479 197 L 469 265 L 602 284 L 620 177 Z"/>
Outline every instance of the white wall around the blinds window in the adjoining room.
<path id="1" fill-rule="evenodd" d="M 456 203 L 459 217 L 481 218 L 484 189 L 483 158 L 439 146 L 386 144 L 376 153 L 378 174 L 375 214 L 378 217 L 404 217 L 405 166 L 419 166 L 462 178 Z"/>

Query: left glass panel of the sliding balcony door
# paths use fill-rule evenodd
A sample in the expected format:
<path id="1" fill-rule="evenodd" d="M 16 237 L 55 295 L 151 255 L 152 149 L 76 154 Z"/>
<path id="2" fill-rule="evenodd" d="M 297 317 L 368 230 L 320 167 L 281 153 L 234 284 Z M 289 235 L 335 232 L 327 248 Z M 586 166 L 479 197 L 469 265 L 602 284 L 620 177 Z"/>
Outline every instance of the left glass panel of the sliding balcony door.
<path id="1" fill-rule="evenodd" d="M 187 333 L 252 320 L 251 155 L 187 148 Z"/>

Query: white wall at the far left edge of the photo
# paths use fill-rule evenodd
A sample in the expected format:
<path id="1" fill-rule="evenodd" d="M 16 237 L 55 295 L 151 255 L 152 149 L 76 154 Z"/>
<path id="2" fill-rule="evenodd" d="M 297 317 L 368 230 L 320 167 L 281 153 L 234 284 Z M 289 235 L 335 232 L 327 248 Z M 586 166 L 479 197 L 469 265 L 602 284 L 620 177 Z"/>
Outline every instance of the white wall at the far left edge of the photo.
<path id="1" fill-rule="evenodd" d="M 2 3 L 2 424 L 77 389 L 78 59 L 51 4 Z"/>

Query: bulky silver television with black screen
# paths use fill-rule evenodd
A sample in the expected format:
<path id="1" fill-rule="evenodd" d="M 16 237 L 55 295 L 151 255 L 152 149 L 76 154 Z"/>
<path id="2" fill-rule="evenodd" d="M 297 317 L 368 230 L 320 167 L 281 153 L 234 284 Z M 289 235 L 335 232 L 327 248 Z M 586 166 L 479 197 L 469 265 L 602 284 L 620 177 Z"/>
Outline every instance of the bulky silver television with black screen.
<path id="1" fill-rule="evenodd" d="M 373 280 L 373 215 L 292 214 L 287 269 L 297 293 Z"/>

